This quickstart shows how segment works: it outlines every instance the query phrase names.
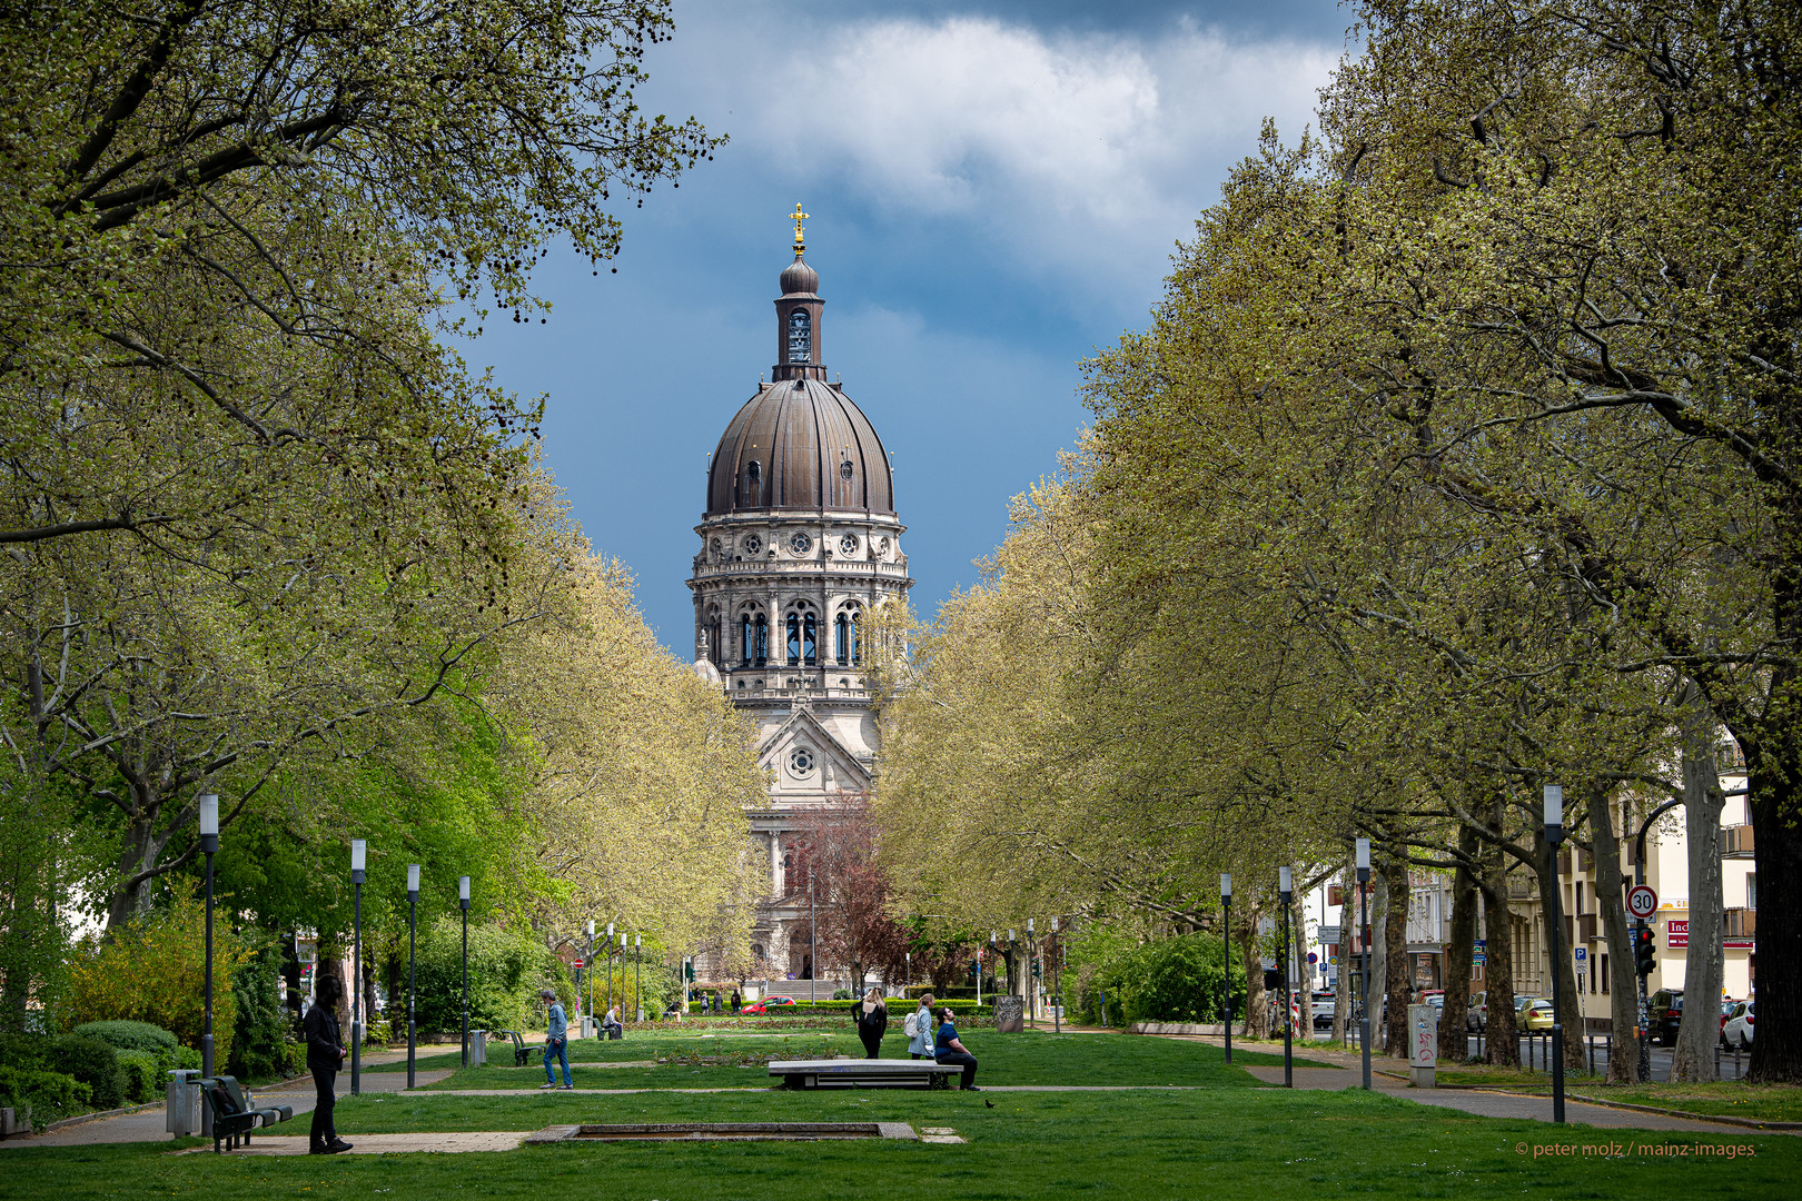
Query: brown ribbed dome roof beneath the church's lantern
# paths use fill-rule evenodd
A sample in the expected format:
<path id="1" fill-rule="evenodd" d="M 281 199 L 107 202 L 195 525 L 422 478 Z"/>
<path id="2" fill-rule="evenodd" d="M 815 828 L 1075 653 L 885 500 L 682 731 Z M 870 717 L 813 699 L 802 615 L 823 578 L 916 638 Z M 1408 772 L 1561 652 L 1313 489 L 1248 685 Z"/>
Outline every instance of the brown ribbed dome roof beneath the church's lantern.
<path id="1" fill-rule="evenodd" d="M 732 418 L 708 470 L 706 513 L 751 510 L 896 511 L 883 441 L 836 384 L 764 384 Z"/>

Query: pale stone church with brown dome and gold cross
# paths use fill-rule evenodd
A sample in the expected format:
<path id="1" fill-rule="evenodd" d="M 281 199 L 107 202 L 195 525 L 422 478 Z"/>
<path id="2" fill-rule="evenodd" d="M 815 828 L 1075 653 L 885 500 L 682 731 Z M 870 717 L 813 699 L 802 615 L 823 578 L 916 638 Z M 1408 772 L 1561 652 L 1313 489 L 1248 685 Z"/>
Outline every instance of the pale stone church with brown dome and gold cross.
<path id="1" fill-rule="evenodd" d="M 750 817 L 753 855 L 768 862 L 753 978 L 773 992 L 815 974 L 798 817 L 867 792 L 876 765 L 863 616 L 914 583 L 888 454 L 843 387 L 827 382 L 825 301 L 804 252 L 796 220 L 775 303 L 777 364 L 719 438 L 688 578 L 696 672 L 757 722 L 771 780 Z M 719 969 L 710 956 L 696 963 L 701 980 L 719 980 Z"/>

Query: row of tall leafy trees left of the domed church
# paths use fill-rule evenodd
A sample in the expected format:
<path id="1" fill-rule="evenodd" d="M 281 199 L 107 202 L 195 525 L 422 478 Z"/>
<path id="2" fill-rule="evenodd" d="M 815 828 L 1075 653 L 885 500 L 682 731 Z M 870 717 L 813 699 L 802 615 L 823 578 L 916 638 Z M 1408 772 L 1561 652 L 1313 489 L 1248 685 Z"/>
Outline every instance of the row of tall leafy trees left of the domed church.
<path id="1" fill-rule="evenodd" d="M 634 99 L 667 2 L 0 22 L 4 1021 L 76 911 L 184 891 L 209 790 L 229 911 L 324 951 L 353 835 L 375 927 L 407 862 L 546 942 L 717 926 L 746 733 L 445 337 L 544 313 L 553 239 L 600 263 L 717 144 Z"/>

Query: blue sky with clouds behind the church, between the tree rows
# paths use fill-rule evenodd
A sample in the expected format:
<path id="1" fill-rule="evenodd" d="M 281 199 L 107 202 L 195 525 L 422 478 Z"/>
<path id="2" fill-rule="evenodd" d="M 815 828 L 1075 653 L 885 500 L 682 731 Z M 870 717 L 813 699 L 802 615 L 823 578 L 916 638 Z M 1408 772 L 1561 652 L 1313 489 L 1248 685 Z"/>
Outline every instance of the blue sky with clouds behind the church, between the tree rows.
<path id="1" fill-rule="evenodd" d="M 1350 22 L 1326 0 L 676 0 L 647 106 L 732 142 L 622 212 L 618 274 L 551 256 L 550 321 L 465 355 L 548 394 L 577 520 L 692 657 L 706 456 L 773 362 L 800 202 L 822 351 L 894 452 L 930 614 L 1076 441 L 1079 360 L 1146 324 L 1263 117 L 1299 137 Z"/>

